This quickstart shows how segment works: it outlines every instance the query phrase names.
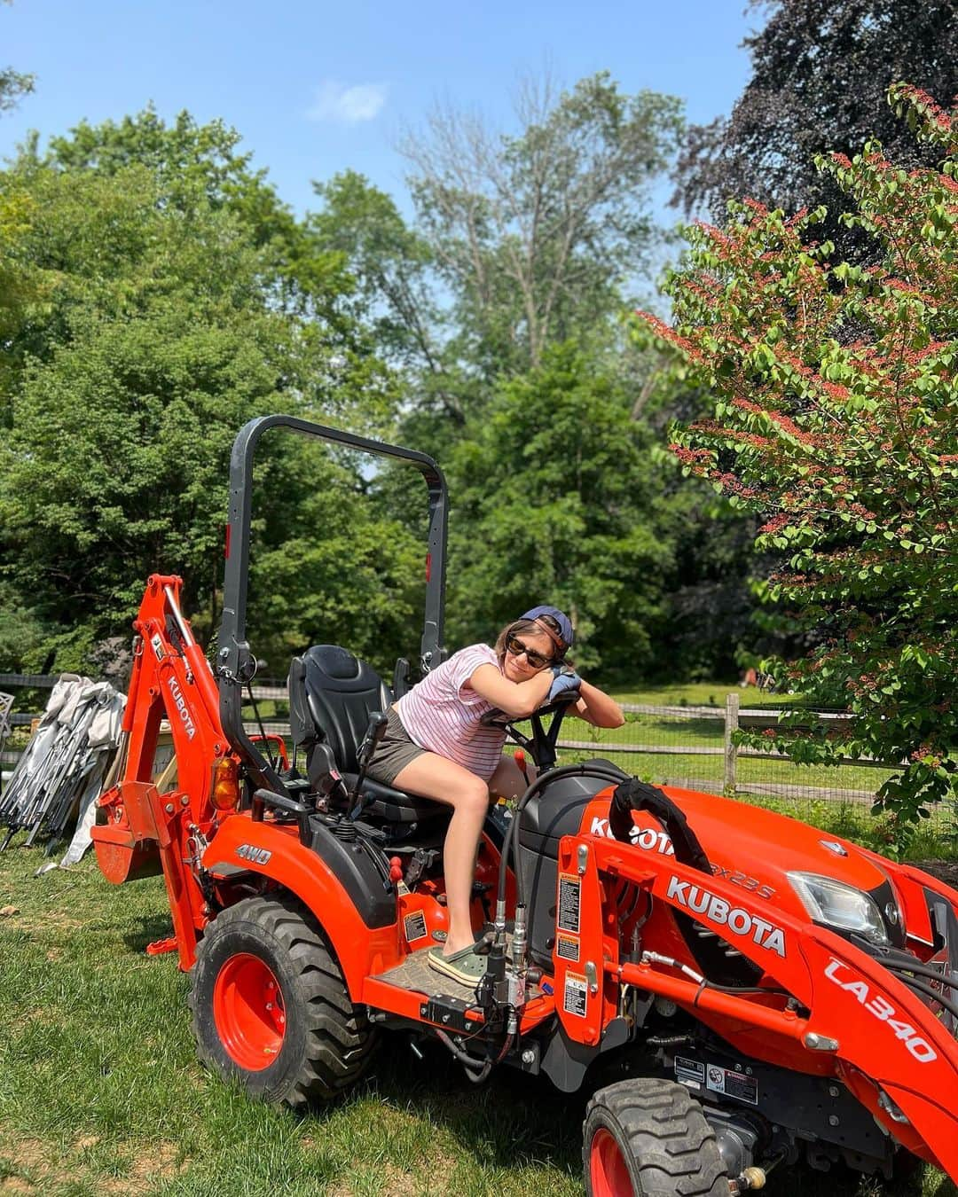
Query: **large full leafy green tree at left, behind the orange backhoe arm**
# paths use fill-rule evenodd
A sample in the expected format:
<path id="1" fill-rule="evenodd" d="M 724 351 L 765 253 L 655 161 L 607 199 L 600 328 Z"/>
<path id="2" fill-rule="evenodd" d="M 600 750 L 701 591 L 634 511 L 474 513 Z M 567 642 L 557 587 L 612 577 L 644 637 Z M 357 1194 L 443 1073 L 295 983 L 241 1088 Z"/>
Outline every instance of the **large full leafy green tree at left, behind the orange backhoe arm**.
<path id="1" fill-rule="evenodd" d="M 56 648 L 60 668 L 83 667 L 97 643 L 126 632 L 154 571 L 184 577 L 194 626 L 210 636 L 240 426 L 274 411 L 360 430 L 390 417 L 395 390 L 346 310 L 341 259 L 313 247 L 308 262 L 308 230 L 242 163 L 219 177 L 211 169 L 223 165 L 216 145 L 234 136 L 186 116 L 165 129 L 147 114 L 84 127 L 81 147 L 56 139 L 44 160 L 28 150 L 0 175 L 0 213 L 20 205 L 0 225 L 6 262 L 44 288 L 42 303 L 2 314 L 11 427 L 0 443 L 0 572 L 17 596 L 7 622 L 34 637 L 19 646 L 23 663 Z M 164 157 L 168 144 L 182 152 Z M 257 481 L 260 549 L 290 609 L 315 609 L 313 588 L 334 608 L 350 609 L 353 594 L 341 567 L 284 566 L 307 518 L 314 536 L 333 534 L 329 563 L 348 560 L 354 523 L 380 540 L 387 581 L 395 563 L 402 577 L 402 528 L 375 510 L 353 518 L 369 490 L 359 468 L 310 458 L 287 438 L 265 444 Z M 275 610 L 261 585 L 250 619 Z M 295 620 L 268 633 L 275 654 L 297 628 L 305 634 Z M 374 645 L 363 633 L 359 650 Z M 408 651 L 408 638 L 381 648 Z"/>

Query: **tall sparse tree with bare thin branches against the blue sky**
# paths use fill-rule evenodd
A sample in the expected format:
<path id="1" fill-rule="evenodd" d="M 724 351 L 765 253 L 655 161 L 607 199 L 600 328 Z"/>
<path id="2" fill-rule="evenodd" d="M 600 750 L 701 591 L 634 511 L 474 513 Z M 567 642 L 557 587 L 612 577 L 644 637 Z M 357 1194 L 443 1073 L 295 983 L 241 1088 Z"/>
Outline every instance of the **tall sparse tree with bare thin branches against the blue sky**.
<path id="1" fill-rule="evenodd" d="M 558 92 L 529 83 L 520 132 L 450 109 L 402 150 L 417 221 L 352 172 L 316 183 L 317 243 L 345 255 L 356 299 L 404 371 L 414 435 L 448 449 L 546 346 L 623 339 L 626 287 L 655 245 L 648 189 L 681 126 L 675 99 L 623 96 L 606 74 Z"/>

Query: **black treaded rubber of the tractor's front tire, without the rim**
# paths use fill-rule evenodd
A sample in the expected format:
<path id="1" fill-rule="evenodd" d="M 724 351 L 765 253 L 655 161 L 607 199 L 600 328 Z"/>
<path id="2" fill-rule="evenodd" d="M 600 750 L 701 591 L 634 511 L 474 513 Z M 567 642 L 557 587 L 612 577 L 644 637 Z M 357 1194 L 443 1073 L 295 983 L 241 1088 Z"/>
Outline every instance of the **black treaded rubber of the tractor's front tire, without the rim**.
<path id="1" fill-rule="evenodd" d="M 613 1123 L 631 1152 L 641 1197 L 728 1197 L 715 1132 L 698 1102 L 660 1077 L 619 1081 L 593 1095 L 583 1128 L 587 1189 L 593 1134 L 602 1125 L 613 1130 Z"/>

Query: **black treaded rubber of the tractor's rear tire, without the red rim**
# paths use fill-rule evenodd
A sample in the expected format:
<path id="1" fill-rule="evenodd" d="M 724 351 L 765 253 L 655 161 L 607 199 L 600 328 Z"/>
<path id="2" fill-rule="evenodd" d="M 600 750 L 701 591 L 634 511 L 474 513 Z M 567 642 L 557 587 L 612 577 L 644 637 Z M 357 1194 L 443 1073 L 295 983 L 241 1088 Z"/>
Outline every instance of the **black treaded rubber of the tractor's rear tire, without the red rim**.
<path id="1" fill-rule="evenodd" d="M 296 898 L 290 894 L 244 898 L 222 911 L 196 947 L 194 967 L 201 966 L 218 936 L 240 930 L 244 924 L 248 930 L 280 944 L 307 999 L 302 1061 L 283 1084 L 283 1092 L 263 1095 L 293 1107 L 338 1096 L 365 1071 L 376 1035 L 365 1011 L 350 1001 L 339 964 L 319 925 Z M 220 1069 L 201 1034 L 204 1011 L 198 1009 L 195 985 L 190 989 L 189 1008 L 200 1061 L 208 1068 Z"/>

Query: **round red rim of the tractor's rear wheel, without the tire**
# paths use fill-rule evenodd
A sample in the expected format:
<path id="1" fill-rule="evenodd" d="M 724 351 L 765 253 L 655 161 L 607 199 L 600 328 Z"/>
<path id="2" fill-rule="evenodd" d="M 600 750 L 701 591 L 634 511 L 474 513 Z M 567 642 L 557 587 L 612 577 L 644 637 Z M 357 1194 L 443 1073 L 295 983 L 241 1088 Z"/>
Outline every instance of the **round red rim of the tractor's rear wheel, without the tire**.
<path id="1" fill-rule="evenodd" d="M 219 970 L 213 986 L 213 1020 L 223 1046 L 240 1068 L 269 1068 L 286 1034 L 283 991 L 259 956 L 240 953 Z"/>

